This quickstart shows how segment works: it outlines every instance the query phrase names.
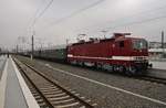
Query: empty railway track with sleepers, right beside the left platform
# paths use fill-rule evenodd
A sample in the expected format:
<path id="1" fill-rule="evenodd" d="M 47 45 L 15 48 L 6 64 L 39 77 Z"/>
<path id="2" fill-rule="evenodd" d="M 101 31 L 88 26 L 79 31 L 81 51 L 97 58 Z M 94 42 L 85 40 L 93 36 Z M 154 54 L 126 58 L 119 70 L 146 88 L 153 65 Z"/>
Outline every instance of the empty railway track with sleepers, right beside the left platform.
<path id="1" fill-rule="evenodd" d="M 15 58 L 14 62 L 41 108 L 94 108 L 96 106 L 76 91 L 62 87 L 34 67 Z"/>

